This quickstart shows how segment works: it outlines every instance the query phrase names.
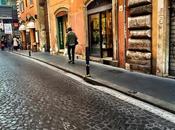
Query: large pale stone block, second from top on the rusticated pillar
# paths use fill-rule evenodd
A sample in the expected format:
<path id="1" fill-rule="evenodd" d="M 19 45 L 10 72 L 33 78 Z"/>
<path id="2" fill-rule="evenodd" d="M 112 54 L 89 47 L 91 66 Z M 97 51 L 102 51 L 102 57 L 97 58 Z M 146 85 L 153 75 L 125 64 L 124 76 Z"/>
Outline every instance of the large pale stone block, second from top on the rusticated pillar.
<path id="1" fill-rule="evenodd" d="M 151 15 L 128 17 L 129 29 L 146 29 L 151 28 Z"/>

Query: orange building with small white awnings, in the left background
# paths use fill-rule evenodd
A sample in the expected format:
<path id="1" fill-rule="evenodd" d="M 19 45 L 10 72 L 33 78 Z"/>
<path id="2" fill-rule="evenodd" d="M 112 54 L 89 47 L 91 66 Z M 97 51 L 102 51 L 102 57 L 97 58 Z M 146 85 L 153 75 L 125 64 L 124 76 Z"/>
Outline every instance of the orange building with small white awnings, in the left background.
<path id="1" fill-rule="evenodd" d="M 47 2 L 42 0 L 18 0 L 19 30 L 23 48 L 33 51 L 49 51 Z"/>

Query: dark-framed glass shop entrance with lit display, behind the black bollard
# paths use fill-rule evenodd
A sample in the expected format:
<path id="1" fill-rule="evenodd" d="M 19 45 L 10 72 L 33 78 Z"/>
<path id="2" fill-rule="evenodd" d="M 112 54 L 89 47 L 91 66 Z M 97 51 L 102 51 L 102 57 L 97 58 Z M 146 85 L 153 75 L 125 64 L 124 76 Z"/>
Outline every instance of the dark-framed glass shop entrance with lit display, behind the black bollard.
<path id="1" fill-rule="evenodd" d="M 113 57 L 112 10 L 90 14 L 88 18 L 91 56 Z"/>

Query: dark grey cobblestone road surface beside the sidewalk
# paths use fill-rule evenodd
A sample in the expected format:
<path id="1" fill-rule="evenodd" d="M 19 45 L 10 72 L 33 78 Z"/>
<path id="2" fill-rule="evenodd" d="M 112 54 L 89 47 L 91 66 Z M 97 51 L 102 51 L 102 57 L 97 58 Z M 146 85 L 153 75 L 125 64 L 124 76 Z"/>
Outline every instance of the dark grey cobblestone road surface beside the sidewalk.
<path id="1" fill-rule="evenodd" d="M 175 130 L 175 124 L 0 52 L 0 130 Z"/>

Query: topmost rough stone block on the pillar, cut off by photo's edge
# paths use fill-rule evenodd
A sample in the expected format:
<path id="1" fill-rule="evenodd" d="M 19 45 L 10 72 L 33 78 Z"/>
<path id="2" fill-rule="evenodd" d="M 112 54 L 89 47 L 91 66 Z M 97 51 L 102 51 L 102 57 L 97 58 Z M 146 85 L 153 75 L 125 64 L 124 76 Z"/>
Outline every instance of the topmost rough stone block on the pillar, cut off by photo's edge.
<path id="1" fill-rule="evenodd" d="M 134 7 L 151 3 L 152 0 L 128 0 L 128 7 Z"/>

